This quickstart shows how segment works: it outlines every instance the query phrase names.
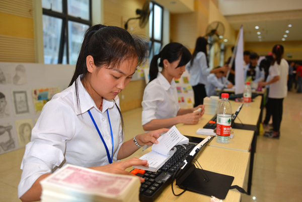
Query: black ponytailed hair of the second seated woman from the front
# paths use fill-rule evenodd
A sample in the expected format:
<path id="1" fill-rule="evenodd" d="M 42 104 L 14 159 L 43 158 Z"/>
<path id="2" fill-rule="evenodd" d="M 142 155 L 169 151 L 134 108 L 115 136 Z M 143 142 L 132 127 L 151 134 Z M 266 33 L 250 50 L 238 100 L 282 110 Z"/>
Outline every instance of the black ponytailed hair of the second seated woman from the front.
<path id="1" fill-rule="evenodd" d="M 188 48 L 183 46 L 180 43 L 171 42 L 165 45 L 165 47 L 161 50 L 161 52 L 157 55 L 154 55 L 151 62 L 150 62 L 150 68 L 149 68 L 149 76 L 150 81 L 156 79 L 157 75 L 159 73 L 159 66 L 164 68 L 164 59 L 167 59 L 170 63 L 176 61 L 181 57 L 179 64 L 176 68 L 179 68 L 180 66 L 186 65 L 192 55 Z M 160 63 L 158 64 L 158 59 L 161 58 Z"/>

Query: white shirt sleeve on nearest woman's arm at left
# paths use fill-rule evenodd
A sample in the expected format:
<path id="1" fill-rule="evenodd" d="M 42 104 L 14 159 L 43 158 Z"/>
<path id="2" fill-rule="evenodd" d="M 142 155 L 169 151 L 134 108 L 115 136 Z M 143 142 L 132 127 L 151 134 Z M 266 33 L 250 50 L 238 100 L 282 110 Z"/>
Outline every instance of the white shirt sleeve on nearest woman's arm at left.
<path id="1" fill-rule="evenodd" d="M 75 132 L 76 116 L 72 116 L 72 113 L 74 111 L 70 106 L 57 101 L 49 101 L 43 107 L 21 163 L 23 172 L 18 186 L 19 197 L 38 177 L 52 173 L 64 161 L 65 142 L 71 140 Z"/>

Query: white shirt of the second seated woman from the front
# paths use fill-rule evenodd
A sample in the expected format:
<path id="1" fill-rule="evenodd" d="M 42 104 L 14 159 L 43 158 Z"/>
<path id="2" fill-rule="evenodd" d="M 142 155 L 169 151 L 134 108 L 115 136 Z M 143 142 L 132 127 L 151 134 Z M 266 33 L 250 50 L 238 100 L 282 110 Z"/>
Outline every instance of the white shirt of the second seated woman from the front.
<path id="1" fill-rule="evenodd" d="M 142 125 L 153 119 L 175 117 L 180 106 L 174 80 L 169 84 L 168 80 L 161 73 L 158 73 L 157 78 L 148 83 L 144 89 L 141 105 Z"/>

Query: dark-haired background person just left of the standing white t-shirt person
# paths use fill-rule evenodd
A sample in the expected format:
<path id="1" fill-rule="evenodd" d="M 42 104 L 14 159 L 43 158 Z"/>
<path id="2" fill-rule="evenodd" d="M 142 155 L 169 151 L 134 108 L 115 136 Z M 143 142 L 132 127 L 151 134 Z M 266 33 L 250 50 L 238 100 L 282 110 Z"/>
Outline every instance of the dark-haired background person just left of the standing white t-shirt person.
<path id="1" fill-rule="evenodd" d="M 258 59 L 259 55 L 256 52 L 250 54 L 251 62 L 247 64 L 244 69 L 244 80 L 246 80 L 247 77 L 251 77 L 252 81 L 256 84 L 259 81 L 264 81 L 264 69 L 260 69 Z"/>

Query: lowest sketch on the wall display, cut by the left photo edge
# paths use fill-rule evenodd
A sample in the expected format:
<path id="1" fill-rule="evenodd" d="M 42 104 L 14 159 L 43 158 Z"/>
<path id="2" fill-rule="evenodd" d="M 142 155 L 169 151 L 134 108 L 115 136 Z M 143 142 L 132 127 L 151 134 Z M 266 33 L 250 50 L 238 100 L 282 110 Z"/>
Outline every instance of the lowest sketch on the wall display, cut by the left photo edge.
<path id="1" fill-rule="evenodd" d="M 0 123 L 0 154 L 17 148 L 11 123 Z"/>

